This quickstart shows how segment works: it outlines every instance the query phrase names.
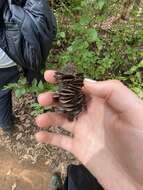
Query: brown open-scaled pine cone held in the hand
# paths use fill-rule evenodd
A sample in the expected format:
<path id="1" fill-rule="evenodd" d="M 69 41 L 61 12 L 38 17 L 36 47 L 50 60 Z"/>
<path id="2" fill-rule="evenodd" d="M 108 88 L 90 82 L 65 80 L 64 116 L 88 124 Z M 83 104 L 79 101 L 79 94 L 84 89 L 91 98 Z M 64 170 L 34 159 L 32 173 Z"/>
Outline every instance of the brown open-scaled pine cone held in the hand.
<path id="1" fill-rule="evenodd" d="M 85 95 L 81 91 L 84 75 L 76 73 L 75 67 L 70 64 L 63 72 L 57 72 L 55 77 L 59 85 L 58 92 L 54 95 L 57 102 L 55 111 L 64 113 L 73 121 L 86 108 Z"/>

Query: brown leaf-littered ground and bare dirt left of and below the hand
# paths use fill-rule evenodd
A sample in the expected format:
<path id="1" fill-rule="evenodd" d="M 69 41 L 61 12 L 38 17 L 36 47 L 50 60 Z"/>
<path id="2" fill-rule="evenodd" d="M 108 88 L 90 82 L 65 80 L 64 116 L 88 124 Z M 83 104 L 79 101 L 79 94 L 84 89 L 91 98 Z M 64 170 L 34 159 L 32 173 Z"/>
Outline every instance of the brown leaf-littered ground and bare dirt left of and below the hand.
<path id="1" fill-rule="evenodd" d="M 61 172 L 64 179 L 67 166 L 78 163 L 70 153 L 36 142 L 39 129 L 30 115 L 32 101 L 30 95 L 13 98 L 15 133 L 9 138 L 0 130 L 0 190 L 50 190 L 52 173 Z M 64 131 L 57 128 L 56 132 Z"/>

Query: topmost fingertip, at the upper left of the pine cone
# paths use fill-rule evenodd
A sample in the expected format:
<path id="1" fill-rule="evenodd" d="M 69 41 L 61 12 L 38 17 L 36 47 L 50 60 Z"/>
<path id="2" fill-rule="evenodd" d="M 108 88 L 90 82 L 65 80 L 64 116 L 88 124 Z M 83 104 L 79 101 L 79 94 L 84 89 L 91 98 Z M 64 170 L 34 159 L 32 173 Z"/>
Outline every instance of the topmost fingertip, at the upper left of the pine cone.
<path id="1" fill-rule="evenodd" d="M 56 84 L 56 78 L 55 78 L 55 75 L 56 75 L 56 71 L 54 70 L 47 70 L 45 73 L 44 73 L 44 78 L 47 82 L 51 83 L 51 84 Z"/>

